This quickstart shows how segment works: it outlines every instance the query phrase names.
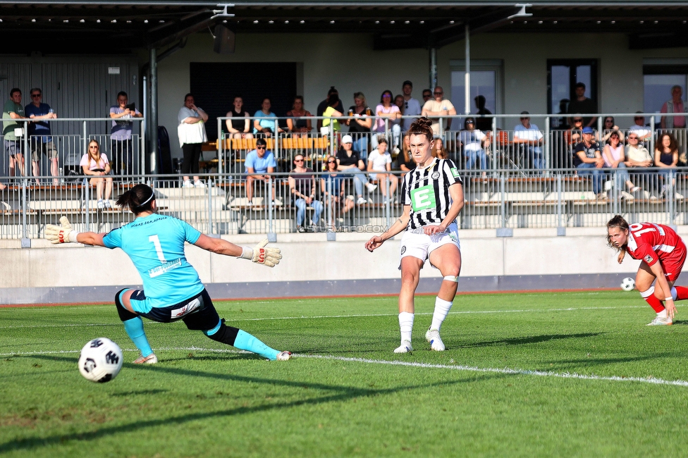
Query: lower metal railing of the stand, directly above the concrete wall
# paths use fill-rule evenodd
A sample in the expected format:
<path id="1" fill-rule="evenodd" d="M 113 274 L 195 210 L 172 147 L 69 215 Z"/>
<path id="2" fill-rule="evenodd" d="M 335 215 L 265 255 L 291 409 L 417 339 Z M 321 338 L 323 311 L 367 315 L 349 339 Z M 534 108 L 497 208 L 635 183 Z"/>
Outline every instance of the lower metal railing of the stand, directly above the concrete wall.
<path id="1" fill-rule="evenodd" d="M 676 168 L 496 169 L 485 175 L 475 170 L 460 174 L 465 206 L 457 221 L 463 229 L 603 227 L 615 214 L 630 222 L 688 224 L 688 174 Z M 115 178 L 110 195 L 106 186 L 101 191 L 85 177 L 59 185 L 12 178 L 0 190 L 0 238 L 42 237 L 45 225 L 58 223 L 60 216 L 68 216 L 77 230 L 117 228 L 132 221 L 132 214 L 99 204 L 99 197 L 112 202 L 135 182 L 155 188 L 160 213 L 210 234 L 379 233 L 403 211 L 400 183 L 395 194 L 381 192 L 389 189 L 392 179 L 400 178 L 398 171 L 385 183 L 371 181 L 378 186 L 372 192 L 364 186 L 364 173 L 338 173 L 336 178 L 314 173 L 314 195 L 320 204 L 297 202 L 288 175 L 274 173 L 269 180 L 252 181 L 251 187 L 240 173 L 204 174 L 205 187 L 183 187 L 177 175 L 135 175 L 133 182 Z"/>

